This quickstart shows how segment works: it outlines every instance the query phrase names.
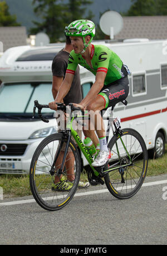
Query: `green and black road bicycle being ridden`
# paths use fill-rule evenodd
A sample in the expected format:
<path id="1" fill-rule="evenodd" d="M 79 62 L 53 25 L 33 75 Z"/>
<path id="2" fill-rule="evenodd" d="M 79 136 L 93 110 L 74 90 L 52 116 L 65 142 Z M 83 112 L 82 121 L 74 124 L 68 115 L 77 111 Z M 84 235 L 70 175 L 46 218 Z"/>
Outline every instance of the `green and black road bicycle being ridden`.
<path id="1" fill-rule="evenodd" d="M 122 103 L 127 104 L 126 100 Z M 82 120 L 86 118 L 85 113 L 80 112 L 78 114 L 76 110 L 79 109 L 72 104 L 57 103 L 57 105 L 58 110 L 66 113 L 68 111 L 68 120 L 63 131 L 43 139 L 33 154 L 30 167 L 30 186 L 36 202 L 43 209 L 55 211 L 62 209 L 71 201 L 78 188 L 81 169 L 83 168 L 81 153 L 86 158 L 87 166 L 84 168 L 92 186 L 105 183 L 109 192 L 117 199 L 129 199 L 134 196 L 142 186 L 148 169 L 148 151 L 143 137 L 134 129 L 121 129 L 119 120 L 114 118 L 114 107 L 112 107 L 109 116 L 105 118 L 108 120 L 106 138 L 111 158 L 106 165 L 95 168 L 92 166 L 93 157 L 84 146 L 78 133 L 73 129 L 74 121 L 82 122 L 84 125 Z M 36 108 L 38 108 L 38 115 L 41 120 L 48 122 L 41 114 L 41 110 L 48 108 L 48 105 L 41 105 L 36 100 L 33 115 L 35 115 Z M 111 130 L 112 137 L 109 141 Z M 64 147 L 63 150 L 62 147 Z M 69 148 L 72 157 L 69 157 Z M 53 190 L 55 176 L 63 176 L 64 180 L 69 180 L 71 170 L 67 168 L 67 164 L 70 160 L 72 160 L 70 168 L 73 176 L 75 176 L 75 180 L 71 183 L 71 190 Z M 81 190 L 78 189 L 77 191 L 80 193 Z"/>

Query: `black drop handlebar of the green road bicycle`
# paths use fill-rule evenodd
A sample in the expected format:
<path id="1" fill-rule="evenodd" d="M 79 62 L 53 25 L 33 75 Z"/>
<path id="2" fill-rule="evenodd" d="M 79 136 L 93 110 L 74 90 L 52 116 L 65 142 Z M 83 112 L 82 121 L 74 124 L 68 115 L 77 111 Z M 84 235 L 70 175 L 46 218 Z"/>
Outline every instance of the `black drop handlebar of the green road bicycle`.
<path id="1" fill-rule="evenodd" d="M 34 104 L 35 104 L 35 105 L 34 105 L 34 107 L 33 107 L 33 116 L 32 116 L 32 118 L 35 117 L 36 108 L 37 108 L 37 109 L 38 109 L 38 116 L 41 118 L 41 120 L 42 120 L 43 122 L 48 123 L 49 120 L 48 120 L 47 118 L 45 118 L 45 117 L 42 116 L 41 110 L 42 110 L 42 108 L 49 108 L 49 106 L 48 106 L 48 105 L 43 105 L 43 104 L 38 103 L 38 100 L 35 100 Z M 66 107 L 67 107 L 67 105 L 65 105 L 65 104 L 63 104 L 63 103 L 56 103 L 56 104 L 57 104 L 57 110 L 62 110 L 63 112 L 66 113 L 66 110 L 67 110 Z M 80 108 L 74 107 L 72 103 L 69 103 L 68 105 L 71 107 L 71 112 L 73 112 L 73 111 L 75 111 L 75 110 L 80 110 L 80 111 L 82 111 Z"/>

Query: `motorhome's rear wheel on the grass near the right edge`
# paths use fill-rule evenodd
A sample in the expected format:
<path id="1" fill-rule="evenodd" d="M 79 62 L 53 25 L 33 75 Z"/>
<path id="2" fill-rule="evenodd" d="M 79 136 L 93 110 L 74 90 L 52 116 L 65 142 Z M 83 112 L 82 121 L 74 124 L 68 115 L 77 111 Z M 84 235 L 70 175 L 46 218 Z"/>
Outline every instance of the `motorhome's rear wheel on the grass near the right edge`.
<path id="1" fill-rule="evenodd" d="M 155 146 L 153 149 L 149 150 L 150 158 L 159 158 L 162 157 L 165 153 L 165 138 L 161 132 L 156 134 Z"/>

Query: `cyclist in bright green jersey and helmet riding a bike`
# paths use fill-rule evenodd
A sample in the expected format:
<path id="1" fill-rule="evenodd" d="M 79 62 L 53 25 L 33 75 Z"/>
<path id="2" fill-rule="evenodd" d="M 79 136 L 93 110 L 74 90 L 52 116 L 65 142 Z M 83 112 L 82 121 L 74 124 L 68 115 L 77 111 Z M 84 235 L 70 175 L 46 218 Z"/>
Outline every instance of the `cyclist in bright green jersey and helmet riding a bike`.
<path id="1" fill-rule="evenodd" d="M 73 21 L 66 27 L 66 35 L 70 36 L 73 50 L 68 59 L 66 76 L 54 102 L 49 103 L 51 109 L 57 110 L 56 102 L 61 102 L 71 88 L 73 76 L 78 64 L 90 70 L 95 76 L 95 83 L 89 93 L 79 104 L 73 104 L 82 110 L 90 111 L 91 120 L 95 120 L 95 131 L 89 130 L 89 137 L 95 146 L 100 143 L 100 151 L 92 166 L 99 167 L 109 160 L 110 152 L 107 148 L 104 122 L 101 110 L 114 106 L 125 100 L 129 94 L 129 70 L 120 57 L 104 45 L 91 44 L 95 36 L 95 24 L 89 20 Z M 101 124 L 101 129 L 98 125 Z M 85 133 L 85 132 L 84 132 Z"/>

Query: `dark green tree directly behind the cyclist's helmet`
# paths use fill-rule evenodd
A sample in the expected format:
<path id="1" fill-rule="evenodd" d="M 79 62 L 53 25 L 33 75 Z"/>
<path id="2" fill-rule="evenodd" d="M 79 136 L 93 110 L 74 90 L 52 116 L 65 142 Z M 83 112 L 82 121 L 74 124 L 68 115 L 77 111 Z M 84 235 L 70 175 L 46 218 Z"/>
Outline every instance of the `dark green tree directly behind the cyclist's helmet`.
<path id="1" fill-rule="evenodd" d="M 68 3 L 58 0 L 33 0 L 36 4 L 35 13 L 42 19 L 42 22 L 33 22 L 36 27 L 30 30 L 31 33 L 45 32 L 51 42 L 65 40 L 65 26 L 74 20 L 88 18 L 91 20 L 92 13 L 85 17 L 86 4 L 89 0 L 69 0 Z"/>

